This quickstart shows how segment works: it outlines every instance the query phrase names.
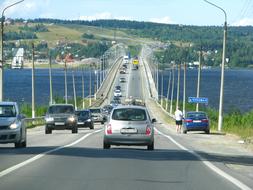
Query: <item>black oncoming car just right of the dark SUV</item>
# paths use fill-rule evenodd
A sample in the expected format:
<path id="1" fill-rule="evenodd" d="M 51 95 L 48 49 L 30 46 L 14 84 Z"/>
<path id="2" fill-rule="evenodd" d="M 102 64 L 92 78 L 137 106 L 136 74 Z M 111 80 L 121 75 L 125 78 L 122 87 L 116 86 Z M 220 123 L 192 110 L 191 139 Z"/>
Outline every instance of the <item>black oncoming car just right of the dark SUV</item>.
<path id="1" fill-rule="evenodd" d="M 89 127 L 90 129 L 94 129 L 90 110 L 78 110 L 75 113 L 77 116 L 78 127 Z"/>

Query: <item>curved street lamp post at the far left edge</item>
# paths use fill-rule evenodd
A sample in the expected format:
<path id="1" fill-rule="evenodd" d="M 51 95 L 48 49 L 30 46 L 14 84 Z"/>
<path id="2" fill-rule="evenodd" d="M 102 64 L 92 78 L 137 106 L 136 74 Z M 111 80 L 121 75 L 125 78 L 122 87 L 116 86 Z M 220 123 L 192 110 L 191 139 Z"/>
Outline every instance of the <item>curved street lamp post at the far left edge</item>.
<path id="1" fill-rule="evenodd" d="M 1 49 L 1 53 L 0 53 L 0 101 L 3 101 L 3 99 L 4 99 L 4 92 L 3 92 L 3 83 L 4 83 L 3 82 L 3 79 L 4 79 L 4 77 L 3 77 L 3 74 L 4 74 L 4 72 L 3 72 L 3 70 L 4 70 L 4 55 L 3 55 L 3 50 L 4 50 L 4 47 L 3 47 L 3 44 L 4 44 L 3 43 L 3 41 L 4 41 L 3 40 L 3 37 L 4 37 L 4 12 L 8 8 L 10 8 L 14 5 L 17 5 L 17 4 L 19 4 L 23 1 L 24 0 L 13 3 L 13 4 L 5 7 L 2 11 L 2 17 L 1 17 L 1 44 L 0 44 L 0 49 Z"/>

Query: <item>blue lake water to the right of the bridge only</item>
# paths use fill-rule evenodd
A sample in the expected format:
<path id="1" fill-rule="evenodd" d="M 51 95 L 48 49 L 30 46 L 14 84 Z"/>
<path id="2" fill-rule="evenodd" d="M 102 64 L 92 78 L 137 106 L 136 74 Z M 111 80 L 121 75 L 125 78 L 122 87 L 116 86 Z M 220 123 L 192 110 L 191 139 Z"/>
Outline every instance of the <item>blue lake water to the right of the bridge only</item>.
<path id="1" fill-rule="evenodd" d="M 161 73 L 159 84 L 161 84 Z M 183 99 L 183 71 L 180 73 L 180 101 Z M 246 112 L 253 109 L 253 70 L 225 70 L 224 73 L 224 111 L 233 108 Z M 186 101 L 188 97 L 196 97 L 198 70 L 187 70 L 186 74 Z M 218 109 L 220 98 L 220 69 L 208 69 L 201 72 L 200 97 L 207 97 L 209 106 Z M 167 95 L 169 71 L 164 71 L 163 95 Z M 161 87 L 161 85 L 160 85 Z M 177 71 L 175 71 L 174 98 L 176 99 Z M 161 88 L 159 88 L 161 92 Z M 160 94 L 160 93 L 159 93 Z"/>

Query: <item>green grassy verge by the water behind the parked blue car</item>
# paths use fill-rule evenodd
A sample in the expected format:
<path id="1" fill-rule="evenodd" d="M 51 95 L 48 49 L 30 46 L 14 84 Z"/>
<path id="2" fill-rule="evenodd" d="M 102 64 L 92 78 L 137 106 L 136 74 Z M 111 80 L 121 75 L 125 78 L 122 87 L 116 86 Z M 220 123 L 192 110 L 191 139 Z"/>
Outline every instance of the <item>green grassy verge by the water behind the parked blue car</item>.
<path id="1" fill-rule="evenodd" d="M 159 102 L 161 103 L 161 102 Z M 163 100 L 163 108 L 166 109 L 166 99 Z M 170 108 L 170 102 L 168 102 L 168 108 Z M 180 102 L 180 108 L 182 110 L 183 103 Z M 186 103 L 186 111 L 196 110 L 195 104 Z M 176 101 L 173 101 L 173 111 L 175 112 Z M 169 109 L 168 109 L 169 110 Z M 205 111 L 208 114 L 210 120 L 210 128 L 212 131 L 218 129 L 218 114 L 219 112 L 215 109 L 200 105 L 200 111 Z M 225 133 L 231 133 L 240 136 L 242 139 L 248 140 L 253 139 L 253 110 L 242 114 L 236 109 L 231 109 L 229 113 L 223 115 L 223 126 L 222 131 Z"/>

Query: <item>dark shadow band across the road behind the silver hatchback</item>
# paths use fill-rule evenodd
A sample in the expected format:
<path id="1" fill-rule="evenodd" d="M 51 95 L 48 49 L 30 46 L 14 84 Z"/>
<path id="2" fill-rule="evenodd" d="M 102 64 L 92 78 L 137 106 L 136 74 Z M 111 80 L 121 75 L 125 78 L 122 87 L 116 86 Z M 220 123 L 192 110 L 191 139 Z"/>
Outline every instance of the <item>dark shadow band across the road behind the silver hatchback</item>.
<path id="1" fill-rule="evenodd" d="M 23 149 L 14 148 L 0 148 L 1 155 L 38 155 L 46 151 L 53 150 L 58 147 L 27 147 Z M 239 164 L 245 166 L 253 166 L 253 156 L 235 156 L 210 154 L 206 152 L 196 152 L 201 155 L 204 160 L 212 162 L 222 162 L 226 164 Z M 85 158 L 115 158 L 115 159 L 136 159 L 136 160 L 150 160 L 150 161 L 199 161 L 193 154 L 183 150 L 168 150 L 155 149 L 148 151 L 145 149 L 138 149 L 135 147 L 112 147 L 109 150 L 99 148 L 85 148 L 85 147 L 68 147 L 63 148 L 48 155 L 69 156 L 69 157 L 85 157 Z"/>

